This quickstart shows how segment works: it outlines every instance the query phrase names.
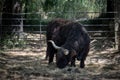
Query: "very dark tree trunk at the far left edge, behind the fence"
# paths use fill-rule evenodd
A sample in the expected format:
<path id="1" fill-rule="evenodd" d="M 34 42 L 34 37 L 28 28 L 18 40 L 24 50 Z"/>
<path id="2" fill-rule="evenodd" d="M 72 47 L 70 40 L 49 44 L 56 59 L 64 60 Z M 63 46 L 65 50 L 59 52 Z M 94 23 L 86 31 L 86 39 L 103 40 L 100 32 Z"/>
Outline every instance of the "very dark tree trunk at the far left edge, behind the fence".
<path id="1" fill-rule="evenodd" d="M 10 25 L 12 25 L 12 21 L 7 20 L 12 18 L 12 1 L 11 0 L 5 0 L 4 5 L 3 5 L 3 13 L 2 13 L 2 26 L 1 26 L 1 39 L 4 39 L 5 35 L 10 34 L 9 31 L 11 31 Z M 6 26 L 5 26 L 6 25 Z M 10 29 L 11 28 L 11 29 Z"/>

